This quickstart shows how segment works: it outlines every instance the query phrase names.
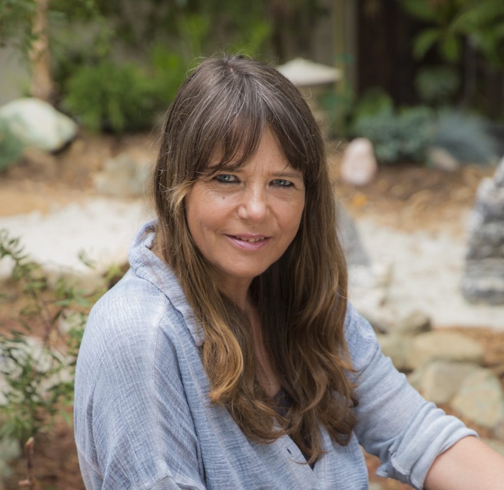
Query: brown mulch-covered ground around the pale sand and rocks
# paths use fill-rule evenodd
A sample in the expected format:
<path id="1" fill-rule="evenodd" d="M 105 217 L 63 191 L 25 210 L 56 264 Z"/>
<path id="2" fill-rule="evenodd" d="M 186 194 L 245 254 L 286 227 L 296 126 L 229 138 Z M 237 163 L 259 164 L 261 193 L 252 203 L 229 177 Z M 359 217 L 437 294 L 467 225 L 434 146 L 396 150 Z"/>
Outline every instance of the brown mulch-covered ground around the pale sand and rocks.
<path id="1" fill-rule="evenodd" d="M 138 135 L 117 139 L 82 135 L 57 155 L 27 153 L 19 165 L 0 174 L 0 215 L 33 210 L 45 213 L 54 204 L 63 205 L 93 195 L 91 176 L 100 170 L 103 159 L 139 145 L 153 149 L 155 137 Z M 370 185 L 355 189 L 338 178 L 337 150 L 331 152 L 330 161 L 337 196 L 352 215 L 370 216 L 404 231 L 435 230 L 452 223 L 473 204 L 481 178 L 493 173 L 492 168 L 475 166 L 449 173 L 416 165 L 381 167 Z M 13 291 L 10 299 L 0 301 L 0 333 L 12 327 L 12 312 L 17 311 L 21 302 L 20 295 Z M 36 331 L 37 326 L 34 327 Z M 485 363 L 499 374 L 504 373 L 504 333 L 468 328 L 460 331 L 483 342 Z M 475 428 L 482 436 L 490 436 L 481 427 Z M 389 490 L 409 488 L 394 480 L 375 477 L 379 462 L 371 456 L 366 460 L 371 481 L 380 481 Z M 9 490 L 19 488 L 17 482 L 26 477 L 25 460 L 15 461 L 12 468 L 13 475 L 6 484 Z M 55 422 L 50 432 L 37 437 L 34 473 L 39 488 L 84 489 L 72 428 L 62 419 Z"/>

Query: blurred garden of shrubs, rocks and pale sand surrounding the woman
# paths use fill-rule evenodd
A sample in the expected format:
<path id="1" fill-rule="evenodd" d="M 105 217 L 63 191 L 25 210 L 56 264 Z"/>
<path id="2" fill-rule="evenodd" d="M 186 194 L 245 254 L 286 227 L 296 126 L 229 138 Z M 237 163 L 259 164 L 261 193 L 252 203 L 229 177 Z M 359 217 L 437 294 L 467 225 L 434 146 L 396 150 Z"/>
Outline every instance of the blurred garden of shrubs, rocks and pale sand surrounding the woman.
<path id="1" fill-rule="evenodd" d="M 292 60 L 318 64 L 298 85 L 327 141 L 350 299 L 424 396 L 504 452 L 501 0 L 0 0 L 0 488 L 84 488 L 87 314 L 152 216 L 177 87 L 238 52 L 294 78 Z M 370 488 L 404 487 L 366 458 Z"/>

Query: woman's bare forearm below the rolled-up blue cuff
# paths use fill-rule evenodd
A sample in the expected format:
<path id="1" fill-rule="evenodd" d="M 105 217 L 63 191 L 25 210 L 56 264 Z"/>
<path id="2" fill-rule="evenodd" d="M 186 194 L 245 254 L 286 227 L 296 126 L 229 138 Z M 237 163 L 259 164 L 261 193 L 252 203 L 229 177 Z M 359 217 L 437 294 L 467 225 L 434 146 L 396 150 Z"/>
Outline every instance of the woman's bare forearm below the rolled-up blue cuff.
<path id="1" fill-rule="evenodd" d="M 440 454 L 430 467 L 425 490 L 504 488 L 504 457 L 475 437 L 465 437 Z"/>

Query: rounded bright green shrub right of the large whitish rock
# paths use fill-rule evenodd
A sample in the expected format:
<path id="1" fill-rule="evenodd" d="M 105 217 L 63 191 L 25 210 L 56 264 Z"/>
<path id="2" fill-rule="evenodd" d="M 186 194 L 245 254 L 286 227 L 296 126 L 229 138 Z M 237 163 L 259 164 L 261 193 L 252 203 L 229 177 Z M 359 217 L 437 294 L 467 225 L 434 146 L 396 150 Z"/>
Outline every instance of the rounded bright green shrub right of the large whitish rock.
<path id="1" fill-rule="evenodd" d="M 91 130 L 122 133 L 152 125 L 155 90 L 136 65 L 102 59 L 82 66 L 69 78 L 65 92 L 62 106 Z"/>

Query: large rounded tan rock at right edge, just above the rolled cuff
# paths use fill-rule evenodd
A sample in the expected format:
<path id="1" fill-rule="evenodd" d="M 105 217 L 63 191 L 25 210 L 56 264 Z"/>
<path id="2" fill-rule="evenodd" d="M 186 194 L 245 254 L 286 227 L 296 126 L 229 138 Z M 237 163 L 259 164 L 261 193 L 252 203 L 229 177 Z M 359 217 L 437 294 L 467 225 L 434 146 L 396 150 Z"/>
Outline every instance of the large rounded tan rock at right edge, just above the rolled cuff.
<path id="1" fill-rule="evenodd" d="M 451 406 L 478 425 L 493 428 L 504 417 L 504 395 L 498 378 L 480 368 L 467 376 Z"/>

